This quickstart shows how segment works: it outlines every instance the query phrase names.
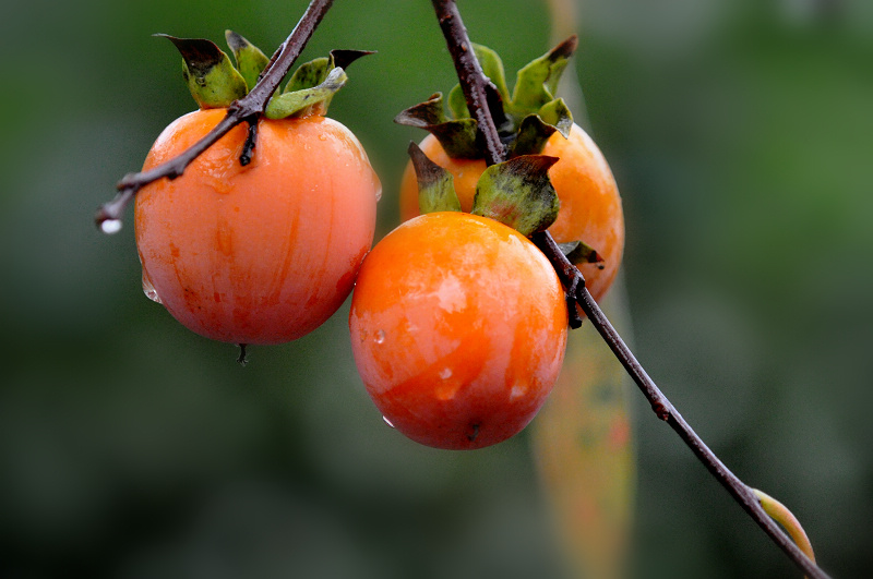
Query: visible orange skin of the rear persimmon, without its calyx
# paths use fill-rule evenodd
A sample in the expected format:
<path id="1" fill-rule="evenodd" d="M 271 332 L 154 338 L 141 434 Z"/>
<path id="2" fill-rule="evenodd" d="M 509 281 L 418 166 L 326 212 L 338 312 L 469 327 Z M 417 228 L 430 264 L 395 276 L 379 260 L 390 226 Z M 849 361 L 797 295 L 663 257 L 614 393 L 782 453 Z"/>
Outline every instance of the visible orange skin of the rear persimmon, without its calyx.
<path id="1" fill-rule="evenodd" d="M 461 208 L 469 212 L 485 160 L 453 159 L 433 135 L 428 135 L 420 147 L 455 177 Z M 560 158 L 549 169 L 549 179 L 561 200 L 558 220 L 549 231 L 559 243 L 584 241 L 603 257 L 602 269 L 595 264 L 579 267 L 588 291 L 599 300 L 612 285 L 624 250 L 624 216 L 615 180 L 600 149 L 578 125 L 573 125 L 570 138 L 560 133 L 549 137 L 542 155 Z M 415 170 L 408 165 L 400 184 L 400 219 L 418 214 L 418 184 Z"/>

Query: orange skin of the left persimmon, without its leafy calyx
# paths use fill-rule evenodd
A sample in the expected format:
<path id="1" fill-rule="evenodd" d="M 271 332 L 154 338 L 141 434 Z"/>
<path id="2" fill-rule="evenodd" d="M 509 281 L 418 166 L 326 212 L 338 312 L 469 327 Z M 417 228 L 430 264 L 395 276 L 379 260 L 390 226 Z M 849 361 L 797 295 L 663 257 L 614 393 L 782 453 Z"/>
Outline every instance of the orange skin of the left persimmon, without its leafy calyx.
<path id="1" fill-rule="evenodd" d="M 143 170 L 177 156 L 225 116 L 174 121 Z M 370 249 L 379 181 L 358 140 L 320 116 L 261 120 L 250 165 L 238 125 L 176 180 L 137 193 L 143 285 L 176 319 L 212 339 L 299 338 L 345 301 Z"/>

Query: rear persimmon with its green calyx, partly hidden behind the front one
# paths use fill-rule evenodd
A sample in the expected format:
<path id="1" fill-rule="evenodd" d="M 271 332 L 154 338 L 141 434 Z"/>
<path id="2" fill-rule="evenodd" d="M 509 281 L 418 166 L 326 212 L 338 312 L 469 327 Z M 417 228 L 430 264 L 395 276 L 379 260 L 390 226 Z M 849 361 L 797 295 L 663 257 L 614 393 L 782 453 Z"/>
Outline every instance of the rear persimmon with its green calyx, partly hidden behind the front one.
<path id="1" fill-rule="evenodd" d="M 509 157 L 540 154 L 559 158 L 549 170 L 549 179 L 561 209 L 549 231 L 559 243 L 578 241 L 585 244 L 585 251 L 578 252 L 574 262 L 585 276 L 591 295 L 600 299 L 621 264 L 624 216 L 619 189 L 602 153 L 573 122 L 564 101 L 554 96 L 576 45 L 576 38 L 571 37 L 522 68 L 512 93 L 497 52 L 481 45 L 474 45 L 474 50 L 491 81 L 489 107 Z M 431 133 L 420 143 L 420 148 L 452 173 L 461 208 L 470 212 L 476 185 L 486 168 L 486 154 L 459 86 L 452 89 L 445 101 L 436 93 L 403 111 L 395 121 Z M 419 215 L 418 194 L 410 162 L 400 183 L 402 219 Z"/>

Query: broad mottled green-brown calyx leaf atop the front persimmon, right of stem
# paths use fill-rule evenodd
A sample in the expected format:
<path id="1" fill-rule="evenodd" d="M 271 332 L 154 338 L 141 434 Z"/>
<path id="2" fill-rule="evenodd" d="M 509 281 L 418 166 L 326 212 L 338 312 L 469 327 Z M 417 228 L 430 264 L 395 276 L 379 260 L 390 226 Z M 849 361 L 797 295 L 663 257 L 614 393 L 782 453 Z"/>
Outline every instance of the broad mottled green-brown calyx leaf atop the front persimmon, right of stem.
<path id="1" fill-rule="evenodd" d="M 523 236 L 547 229 L 561 204 L 549 180 L 558 157 L 522 155 L 485 170 L 476 184 L 473 213 L 512 227 Z"/>

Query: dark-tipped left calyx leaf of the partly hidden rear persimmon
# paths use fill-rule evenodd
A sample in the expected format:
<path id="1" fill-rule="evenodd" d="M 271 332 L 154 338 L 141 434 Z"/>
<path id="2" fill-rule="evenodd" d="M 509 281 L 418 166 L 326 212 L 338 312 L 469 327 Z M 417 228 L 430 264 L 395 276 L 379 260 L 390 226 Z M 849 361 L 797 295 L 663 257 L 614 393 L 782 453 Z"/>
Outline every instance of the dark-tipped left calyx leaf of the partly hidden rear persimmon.
<path id="1" fill-rule="evenodd" d="M 450 157 L 459 159 L 482 157 L 483 143 L 480 142 L 478 123 L 469 118 L 449 119 L 443 110 L 442 93 L 436 93 L 424 102 L 404 110 L 394 118 L 394 122 L 429 131 Z"/>

